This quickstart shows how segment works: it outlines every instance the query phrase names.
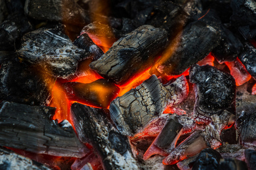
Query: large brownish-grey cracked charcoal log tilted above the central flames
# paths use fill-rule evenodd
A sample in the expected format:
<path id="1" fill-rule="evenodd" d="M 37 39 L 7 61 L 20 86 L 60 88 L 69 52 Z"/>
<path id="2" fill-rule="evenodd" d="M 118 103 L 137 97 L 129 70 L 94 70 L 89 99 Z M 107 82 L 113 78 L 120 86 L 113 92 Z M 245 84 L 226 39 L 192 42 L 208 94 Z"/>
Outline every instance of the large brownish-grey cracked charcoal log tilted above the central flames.
<path id="1" fill-rule="evenodd" d="M 167 32 L 143 25 L 116 41 L 90 67 L 104 78 L 123 84 L 152 66 L 156 54 L 166 45 Z"/>

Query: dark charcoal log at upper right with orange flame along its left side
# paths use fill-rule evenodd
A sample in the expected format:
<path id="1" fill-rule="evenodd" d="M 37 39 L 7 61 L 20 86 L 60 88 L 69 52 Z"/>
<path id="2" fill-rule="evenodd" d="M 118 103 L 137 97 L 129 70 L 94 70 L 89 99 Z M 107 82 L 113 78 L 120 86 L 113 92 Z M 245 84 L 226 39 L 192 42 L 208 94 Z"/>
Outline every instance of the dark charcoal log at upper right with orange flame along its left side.
<path id="1" fill-rule="evenodd" d="M 218 36 L 217 30 L 208 24 L 200 21 L 188 24 L 163 52 L 156 62 L 156 69 L 161 74 L 182 74 L 218 45 Z"/>

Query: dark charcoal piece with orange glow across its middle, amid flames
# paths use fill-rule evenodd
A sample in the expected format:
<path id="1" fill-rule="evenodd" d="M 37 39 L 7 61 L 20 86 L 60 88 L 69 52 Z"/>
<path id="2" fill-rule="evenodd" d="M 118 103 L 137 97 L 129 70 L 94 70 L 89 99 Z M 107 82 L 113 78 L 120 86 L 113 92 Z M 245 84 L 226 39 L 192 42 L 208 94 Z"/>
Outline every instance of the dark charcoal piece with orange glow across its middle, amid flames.
<path id="1" fill-rule="evenodd" d="M 106 79 L 98 79 L 92 83 L 68 82 L 63 87 L 69 100 L 79 101 L 106 108 L 117 97 L 120 88 Z"/>

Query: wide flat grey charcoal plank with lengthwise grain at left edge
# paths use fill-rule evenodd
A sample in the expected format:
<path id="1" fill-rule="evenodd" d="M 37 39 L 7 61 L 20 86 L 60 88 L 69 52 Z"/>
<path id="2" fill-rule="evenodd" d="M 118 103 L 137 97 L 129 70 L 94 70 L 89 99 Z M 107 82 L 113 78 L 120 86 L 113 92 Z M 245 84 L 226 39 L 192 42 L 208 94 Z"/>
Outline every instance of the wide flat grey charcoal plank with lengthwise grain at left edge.
<path id="1" fill-rule="evenodd" d="M 81 158 L 89 151 L 67 120 L 50 121 L 56 108 L 5 102 L 0 109 L 0 145 L 38 154 Z"/>

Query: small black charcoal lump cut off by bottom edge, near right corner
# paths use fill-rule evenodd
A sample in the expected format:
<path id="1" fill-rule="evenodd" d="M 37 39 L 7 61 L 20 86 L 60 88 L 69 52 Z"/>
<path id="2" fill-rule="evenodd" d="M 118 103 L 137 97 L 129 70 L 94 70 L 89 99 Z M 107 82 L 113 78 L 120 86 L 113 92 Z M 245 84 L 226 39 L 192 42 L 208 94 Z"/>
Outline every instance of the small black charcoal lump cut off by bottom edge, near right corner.
<path id="1" fill-rule="evenodd" d="M 218 165 L 218 169 L 226 169 L 226 170 L 240 170 L 247 169 L 247 165 L 242 160 L 237 160 L 234 158 L 225 158 L 220 160 L 220 164 Z"/>

